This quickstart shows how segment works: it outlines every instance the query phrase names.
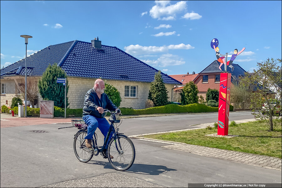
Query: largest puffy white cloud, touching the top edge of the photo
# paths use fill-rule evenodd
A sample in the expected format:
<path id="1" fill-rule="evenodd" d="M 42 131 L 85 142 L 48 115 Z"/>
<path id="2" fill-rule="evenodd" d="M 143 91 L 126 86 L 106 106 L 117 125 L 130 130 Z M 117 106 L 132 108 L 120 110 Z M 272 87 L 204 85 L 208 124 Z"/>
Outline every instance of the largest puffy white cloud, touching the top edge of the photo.
<path id="1" fill-rule="evenodd" d="M 156 5 L 150 9 L 150 16 L 159 20 L 175 19 L 176 13 L 186 10 L 187 6 L 186 1 L 180 1 L 172 5 L 170 1 L 155 1 L 155 3 Z"/>

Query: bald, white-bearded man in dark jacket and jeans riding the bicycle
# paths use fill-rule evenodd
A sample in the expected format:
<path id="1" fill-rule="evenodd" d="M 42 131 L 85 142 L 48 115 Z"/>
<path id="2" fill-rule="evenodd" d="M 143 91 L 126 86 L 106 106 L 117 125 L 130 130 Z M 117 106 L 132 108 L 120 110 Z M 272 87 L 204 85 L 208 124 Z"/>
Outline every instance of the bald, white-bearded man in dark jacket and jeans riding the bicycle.
<path id="1" fill-rule="evenodd" d="M 120 109 L 112 103 L 106 93 L 105 83 L 101 79 L 97 79 L 94 83 L 94 87 L 87 91 L 84 97 L 84 106 L 82 118 L 84 122 L 88 125 L 87 127 L 87 135 L 85 137 L 85 145 L 87 148 L 92 149 L 92 138 L 95 130 L 97 128 L 100 129 L 102 134 L 104 135 L 104 141 L 106 139 L 108 130 L 110 128 L 110 124 L 107 119 L 104 118 L 107 113 L 103 113 L 104 109 L 108 109 L 111 111 L 116 111 L 117 114 L 120 114 Z M 109 140 L 112 138 L 112 134 L 109 137 Z M 106 146 L 107 147 L 107 146 Z M 105 148 L 106 151 L 107 148 Z M 107 158 L 106 152 L 103 151 L 103 157 Z M 112 159 L 113 157 L 110 156 Z"/>

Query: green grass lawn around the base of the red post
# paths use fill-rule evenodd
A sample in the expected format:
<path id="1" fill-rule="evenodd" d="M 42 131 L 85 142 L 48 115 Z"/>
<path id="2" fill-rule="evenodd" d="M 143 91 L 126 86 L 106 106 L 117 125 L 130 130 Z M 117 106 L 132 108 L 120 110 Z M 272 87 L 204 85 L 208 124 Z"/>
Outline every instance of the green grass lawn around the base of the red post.
<path id="1" fill-rule="evenodd" d="M 154 134 L 144 137 L 266 155 L 281 159 L 281 130 L 281 125 L 274 129 L 274 131 L 268 131 L 266 123 L 248 122 L 228 128 L 228 134 L 239 135 L 233 138 L 205 136 L 206 134 L 217 133 L 217 129 L 215 128 L 211 130 L 203 128 L 174 133 Z"/>

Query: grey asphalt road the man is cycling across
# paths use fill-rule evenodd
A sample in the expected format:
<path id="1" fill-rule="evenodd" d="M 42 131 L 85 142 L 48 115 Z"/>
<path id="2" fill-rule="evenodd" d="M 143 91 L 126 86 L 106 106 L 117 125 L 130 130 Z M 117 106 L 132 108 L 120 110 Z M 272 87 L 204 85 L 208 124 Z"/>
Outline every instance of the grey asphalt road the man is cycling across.
<path id="1" fill-rule="evenodd" d="M 230 112 L 230 121 L 251 119 Z M 217 113 L 123 119 L 126 135 L 195 128 L 217 121 Z M 194 125 L 194 126 L 190 126 Z M 281 171 L 166 149 L 163 143 L 132 139 L 136 159 L 128 171 L 94 156 L 79 162 L 73 152 L 76 128 L 45 124 L 1 128 L 1 187 L 187 187 L 188 183 L 281 183 Z M 43 130 L 45 133 L 34 133 Z M 98 137 L 102 135 L 98 132 Z"/>

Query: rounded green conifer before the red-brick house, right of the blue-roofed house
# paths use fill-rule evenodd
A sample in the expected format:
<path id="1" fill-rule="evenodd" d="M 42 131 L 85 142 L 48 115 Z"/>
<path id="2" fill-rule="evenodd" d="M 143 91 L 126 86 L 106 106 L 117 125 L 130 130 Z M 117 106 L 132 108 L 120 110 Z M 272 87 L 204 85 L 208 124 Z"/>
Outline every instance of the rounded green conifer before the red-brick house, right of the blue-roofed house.
<path id="1" fill-rule="evenodd" d="M 187 83 L 183 89 L 181 95 L 181 104 L 187 105 L 187 104 L 194 104 L 198 103 L 199 96 L 198 96 L 199 90 L 196 84 L 194 84 L 193 81 L 190 81 Z"/>

